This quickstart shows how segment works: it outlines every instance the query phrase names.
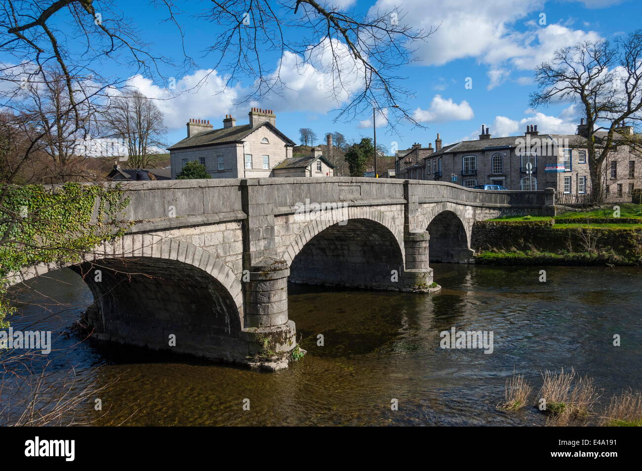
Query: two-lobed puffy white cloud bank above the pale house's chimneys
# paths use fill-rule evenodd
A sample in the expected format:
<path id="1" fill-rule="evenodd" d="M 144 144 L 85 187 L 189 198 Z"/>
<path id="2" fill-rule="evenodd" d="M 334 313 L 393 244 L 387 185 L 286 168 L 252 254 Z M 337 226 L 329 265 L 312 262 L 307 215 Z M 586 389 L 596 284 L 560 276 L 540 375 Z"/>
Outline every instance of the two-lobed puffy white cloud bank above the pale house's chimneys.
<path id="1" fill-rule="evenodd" d="M 336 62 L 333 62 L 333 51 Z M 279 112 L 331 111 L 350 100 L 363 86 L 362 70 L 363 66 L 356 64 L 345 44 L 325 39 L 306 57 L 285 52 L 266 78 L 273 89 L 259 102 L 243 103 L 242 108 L 238 103 L 250 91 L 240 85 L 226 87 L 227 77 L 212 69 L 179 78 L 171 90 L 141 75 L 131 77 L 127 85 L 155 98 L 166 126 L 173 130 L 183 127 L 189 118 L 212 120 L 224 114 L 236 116 L 252 106 Z M 213 124 L 216 127 L 216 123 Z"/>

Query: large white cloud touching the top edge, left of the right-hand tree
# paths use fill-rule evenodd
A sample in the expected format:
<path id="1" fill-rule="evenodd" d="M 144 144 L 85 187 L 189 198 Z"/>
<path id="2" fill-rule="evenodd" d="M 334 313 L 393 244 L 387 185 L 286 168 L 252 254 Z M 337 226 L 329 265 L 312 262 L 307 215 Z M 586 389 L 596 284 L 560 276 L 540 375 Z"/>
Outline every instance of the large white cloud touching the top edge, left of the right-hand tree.
<path id="1" fill-rule="evenodd" d="M 372 7 L 389 10 L 399 4 L 410 26 L 437 31 L 417 45 L 417 57 L 426 65 L 441 66 L 460 58 L 476 58 L 490 67 L 492 89 L 507 80 L 510 68 L 534 69 L 550 60 L 556 49 L 583 40 L 600 39 L 594 31 L 573 30 L 562 24 L 539 25 L 545 0 L 378 0 Z M 585 0 L 586 4 L 605 3 Z M 528 21 L 523 21 L 523 20 Z M 516 29 L 517 23 L 525 31 Z"/>

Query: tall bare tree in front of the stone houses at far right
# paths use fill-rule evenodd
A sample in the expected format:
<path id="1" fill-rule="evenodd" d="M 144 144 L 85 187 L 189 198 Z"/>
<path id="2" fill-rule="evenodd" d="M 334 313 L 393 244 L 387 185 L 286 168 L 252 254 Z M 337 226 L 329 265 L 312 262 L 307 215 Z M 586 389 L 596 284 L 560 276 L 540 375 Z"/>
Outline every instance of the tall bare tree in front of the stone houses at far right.
<path id="1" fill-rule="evenodd" d="M 564 100 L 580 105 L 585 139 L 576 145 L 587 148 L 591 199 L 601 201 L 609 154 L 641 144 L 636 134 L 618 130 L 642 120 L 642 30 L 614 44 L 587 41 L 558 49 L 551 62 L 535 69 L 535 81 L 539 91 L 530 96 L 532 107 Z"/>

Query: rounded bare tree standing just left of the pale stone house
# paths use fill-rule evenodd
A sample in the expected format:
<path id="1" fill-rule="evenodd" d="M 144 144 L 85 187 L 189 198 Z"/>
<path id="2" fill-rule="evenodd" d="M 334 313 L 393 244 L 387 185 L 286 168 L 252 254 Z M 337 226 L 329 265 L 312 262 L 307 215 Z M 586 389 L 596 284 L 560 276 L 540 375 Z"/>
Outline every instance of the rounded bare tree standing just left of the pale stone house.
<path id="1" fill-rule="evenodd" d="M 111 137 L 124 139 L 133 168 L 146 168 L 152 154 L 164 146 L 166 127 L 162 113 L 150 98 L 138 91 L 126 91 L 112 98 L 103 114 Z"/>

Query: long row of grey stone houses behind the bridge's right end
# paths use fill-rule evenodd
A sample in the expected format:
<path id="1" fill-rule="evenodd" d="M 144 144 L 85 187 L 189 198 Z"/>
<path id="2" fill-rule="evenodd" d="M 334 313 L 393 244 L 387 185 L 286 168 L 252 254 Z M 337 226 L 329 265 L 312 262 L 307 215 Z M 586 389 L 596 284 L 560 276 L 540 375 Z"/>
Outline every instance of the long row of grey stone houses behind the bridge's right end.
<path id="1" fill-rule="evenodd" d="M 482 125 L 479 139 L 460 141 L 437 148 L 419 145 L 397 161 L 397 178 L 455 182 L 466 187 L 498 184 L 508 190 L 544 190 L 582 195 L 590 191 L 586 125 L 577 134 L 539 134 L 537 125 L 528 125 L 523 136 L 492 138 Z M 604 138 L 606 132 L 596 133 Z M 621 127 L 616 139 L 633 136 L 633 128 Z M 421 152 L 424 155 L 421 156 Z M 402 162 L 403 161 L 403 162 Z M 403 172 L 403 173 L 402 173 Z M 621 145 L 611 153 L 602 169 L 609 193 L 627 195 L 642 186 L 642 156 Z"/>

